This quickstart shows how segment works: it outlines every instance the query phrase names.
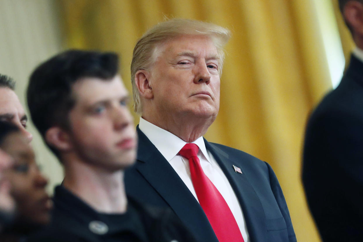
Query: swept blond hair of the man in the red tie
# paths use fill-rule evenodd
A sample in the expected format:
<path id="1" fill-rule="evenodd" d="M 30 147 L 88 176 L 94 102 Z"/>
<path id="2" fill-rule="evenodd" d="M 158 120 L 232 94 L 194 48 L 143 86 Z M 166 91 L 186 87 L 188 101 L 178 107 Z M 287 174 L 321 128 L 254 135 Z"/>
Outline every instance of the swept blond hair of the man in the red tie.
<path id="1" fill-rule="evenodd" d="M 158 46 L 165 41 L 182 35 L 204 35 L 211 38 L 217 48 L 220 57 L 219 74 L 221 74 L 224 50 L 231 34 L 228 29 L 221 26 L 190 19 L 171 19 L 160 22 L 137 41 L 131 61 L 131 83 L 134 98 L 134 110 L 141 114 L 141 103 L 139 90 L 135 84 L 135 74 L 138 70 L 148 70 L 158 57 Z"/>

